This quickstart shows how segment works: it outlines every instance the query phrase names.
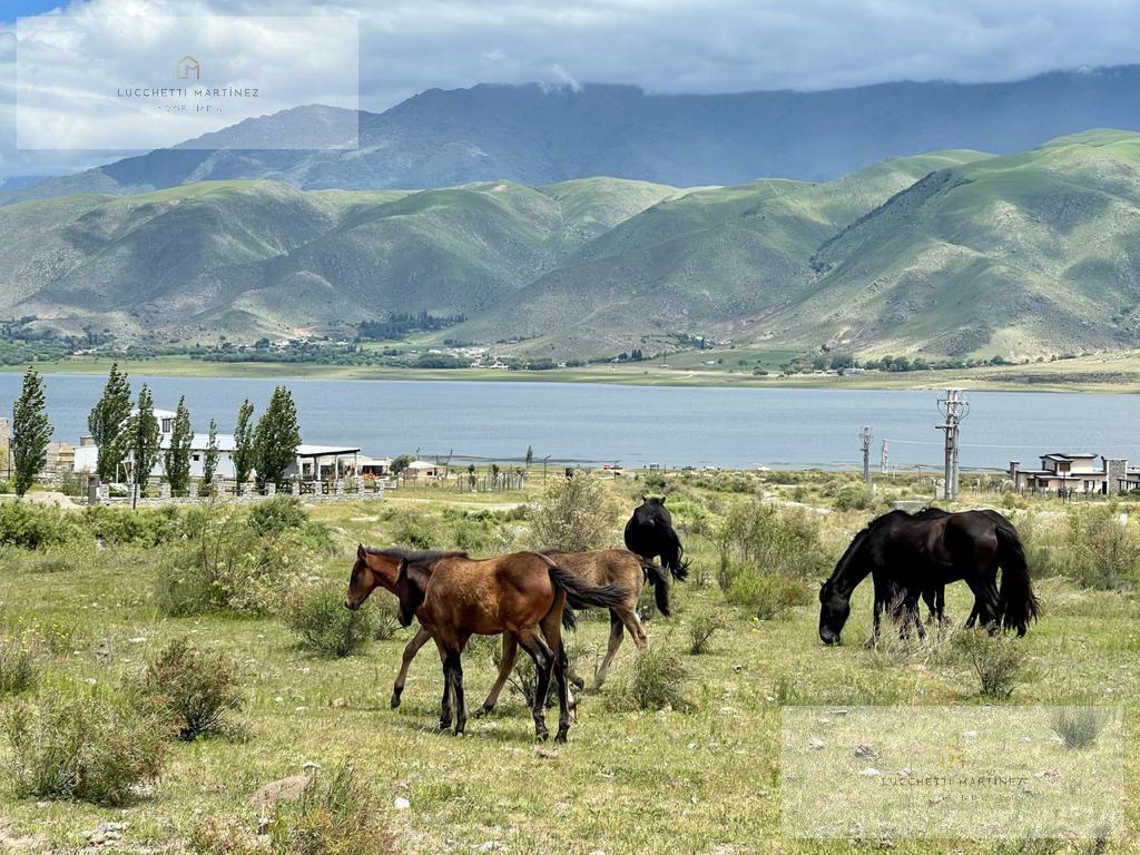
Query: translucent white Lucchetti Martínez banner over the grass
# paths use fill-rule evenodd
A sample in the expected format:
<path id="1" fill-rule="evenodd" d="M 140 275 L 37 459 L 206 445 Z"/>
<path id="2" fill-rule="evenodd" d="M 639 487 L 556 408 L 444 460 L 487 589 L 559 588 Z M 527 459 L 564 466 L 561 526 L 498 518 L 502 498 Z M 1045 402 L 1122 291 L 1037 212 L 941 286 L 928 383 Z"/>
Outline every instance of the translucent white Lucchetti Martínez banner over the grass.
<path id="1" fill-rule="evenodd" d="M 1112 839 L 1117 708 L 785 707 L 790 838 Z"/>

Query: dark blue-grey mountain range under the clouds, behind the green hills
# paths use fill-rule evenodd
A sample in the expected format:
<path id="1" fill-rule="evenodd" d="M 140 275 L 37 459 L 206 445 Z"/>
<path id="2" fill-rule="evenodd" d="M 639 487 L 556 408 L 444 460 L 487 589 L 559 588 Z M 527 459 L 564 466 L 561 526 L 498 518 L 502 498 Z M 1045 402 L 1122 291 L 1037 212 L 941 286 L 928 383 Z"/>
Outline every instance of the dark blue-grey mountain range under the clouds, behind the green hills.
<path id="1" fill-rule="evenodd" d="M 1008 83 L 896 82 L 817 92 L 659 95 L 636 87 L 480 84 L 432 89 L 358 116 L 359 149 L 234 148 L 343 123 L 312 105 L 169 149 L 0 192 L 0 203 L 131 194 L 205 180 L 301 189 L 529 186 L 612 176 L 694 187 L 758 177 L 826 181 L 888 157 L 945 148 L 999 154 L 1088 128 L 1140 130 L 1140 66 Z"/>

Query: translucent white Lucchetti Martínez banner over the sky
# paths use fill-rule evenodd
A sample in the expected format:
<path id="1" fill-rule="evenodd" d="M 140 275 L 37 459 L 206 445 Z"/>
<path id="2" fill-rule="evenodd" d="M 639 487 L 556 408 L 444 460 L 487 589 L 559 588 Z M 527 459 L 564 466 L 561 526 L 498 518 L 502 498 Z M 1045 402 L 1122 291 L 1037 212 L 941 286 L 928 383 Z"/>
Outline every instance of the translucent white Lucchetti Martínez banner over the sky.
<path id="1" fill-rule="evenodd" d="M 359 92 L 355 17 L 42 15 L 16 25 L 25 149 L 356 148 Z M 327 109 L 231 128 L 308 105 Z"/>

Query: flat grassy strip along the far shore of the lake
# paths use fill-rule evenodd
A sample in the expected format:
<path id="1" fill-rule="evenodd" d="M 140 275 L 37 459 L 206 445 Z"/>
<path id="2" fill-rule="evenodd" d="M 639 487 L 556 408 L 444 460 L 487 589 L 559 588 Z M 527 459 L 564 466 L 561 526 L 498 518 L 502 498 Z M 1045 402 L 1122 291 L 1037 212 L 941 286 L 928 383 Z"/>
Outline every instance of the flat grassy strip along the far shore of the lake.
<path id="1" fill-rule="evenodd" d="M 466 380 L 538 383 L 620 383 L 629 385 L 757 386 L 807 389 L 947 389 L 1009 392 L 1140 392 L 1140 351 L 1122 351 L 1065 359 L 1056 363 L 995 366 L 962 370 L 906 373 L 872 372 L 862 375 L 797 374 L 780 377 L 779 365 L 790 351 L 724 350 L 677 355 L 667 367 L 660 363 L 593 365 L 544 372 L 507 372 L 490 368 L 412 369 L 335 365 L 206 363 L 189 357 L 155 357 L 124 361 L 132 374 L 203 377 L 309 377 L 331 380 Z M 749 364 L 741 367 L 740 360 Z M 720 360 L 718 364 L 717 360 Z M 709 365 L 711 363 L 711 365 Z M 769 373 L 755 376 L 759 364 Z M 38 363 L 41 372 L 106 374 L 111 360 L 73 357 Z M 23 370 L 26 366 L 0 366 Z"/>

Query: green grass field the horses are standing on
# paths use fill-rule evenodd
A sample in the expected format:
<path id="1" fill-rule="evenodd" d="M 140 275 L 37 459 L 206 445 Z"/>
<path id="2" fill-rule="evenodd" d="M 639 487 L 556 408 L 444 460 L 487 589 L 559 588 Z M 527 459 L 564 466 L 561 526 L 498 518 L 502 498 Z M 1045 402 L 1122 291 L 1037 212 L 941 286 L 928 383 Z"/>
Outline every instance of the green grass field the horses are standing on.
<path id="1" fill-rule="evenodd" d="M 759 619 L 755 609 L 730 602 L 717 583 L 722 564 L 716 543 L 733 510 L 765 497 L 768 505 L 783 508 L 781 513 L 814 528 L 826 561 L 833 562 L 874 513 L 836 508 L 837 503 L 842 506 L 836 498 L 837 486 L 847 479 L 814 474 L 781 482 L 746 473 L 671 481 L 670 504 L 692 570 L 686 583 L 673 587 L 674 617 L 654 617 L 646 629 L 651 649 L 675 653 L 684 666 L 686 676 L 677 687 L 691 708 L 642 710 L 624 701 L 636 660 L 627 640 L 601 694 L 580 697 L 570 742 L 543 744 L 542 750 L 521 697 L 510 691 L 496 712 L 473 719 L 463 738 L 435 732 L 441 678 L 430 648 L 412 667 L 402 706 L 389 709 L 391 682 L 410 630 L 376 642 L 364 656 L 321 659 L 302 650 L 296 636 L 274 617 L 231 612 L 164 617 L 153 598 L 155 578 L 164 572 L 155 551 L 75 552 L 74 563 L 52 563 L 54 571 L 36 564 L 35 554 L 0 552 L 3 633 L 54 640 L 43 653 L 46 670 L 36 691 L 114 684 L 182 635 L 229 652 L 242 666 L 247 690 L 244 739 L 174 744 L 158 781 L 123 806 L 15 799 L 7 782 L 0 782 L 0 850 L 6 845 L 28 852 L 73 850 L 84 846 L 100 823 L 117 822 L 125 823 L 124 839 L 115 845 L 122 850 L 181 852 L 205 817 L 256 828 L 259 809 L 251 796 L 263 784 L 296 775 L 309 762 L 320 765 L 319 774 L 327 774 L 351 760 L 372 788 L 373 809 L 392 830 L 397 852 L 1137 852 L 1140 604 L 1130 587 L 1097 591 L 1064 576 L 1039 579 L 1044 617 L 1019 642 L 1028 654 L 1028 668 L 1012 695 L 1002 701 L 979 698 L 974 674 L 943 656 L 944 645 L 937 641 L 865 649 L 861 642 L 870 632 L 869 584 L 856 592 L 846 643 L 839 648 L 819 642 L 819 612 L 811 602 L 814 575 L 797 580 L 807 598 L 772 618 Z M 642 486 L 606 481 L 605 489 L 614 499 L 609 539 L 617 545 Z M 475 520 L 480 505 L 500 511 L 536 498 L 535 492 L 462 499 L 442 490 L 425 492 L 416 499 L 397 496 L 310 507 L 310 516 L 327 523 L 336 543 L 336 553 L 320 561 L 317 573 L 344 584 L 356 543 L 386 545 L 413 523 L 430 534 L 433 545 L 455 546 L 445 540 L 449 531 L 459 530 L 456 519 Z M 893 484 L 880 498 L 907 492 L 905 483 Z M 1020 505 L 1017 519 L 1035 544 L 1056 543 L 1041 539 L 1047 529 L 1064 536 L 1067 507 L 1012 504 Z M 1135 518 L 1132 513 L 1133 528 Z M 484 514 L 479 524 L 504 547 L 532 545 L 522 515 Z M 964 586 L 951 588 L 947 611 L 958 621 L 964 618 L 969 611 Z M 722 626 L 709 651 L 694 656 L 690 627 L 707 616 L 716 616 Z M 604 652 L 606 633 L 604 619 L 586 618 L 571 642 L 578 670 L 587 678 Z M 472 708 L 494 679 L 491 648 L 474 645 L 465 656 Z M 780 725 L 785 706 L 980 708 L 994 702 L 1123 708 L 1130 803 L 1122 839 L 828 841 L 781 836 Z M 0 695 L 0 706 L 5 703 Z M 551 710 L 548 720 L 553 723 L 555 715 Z M 10 762 L 10 748 L 0 744 L 0 769 Z M 406 799 L 406 807 L 397 807 L 400 799 Z"/>

